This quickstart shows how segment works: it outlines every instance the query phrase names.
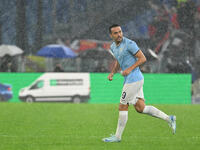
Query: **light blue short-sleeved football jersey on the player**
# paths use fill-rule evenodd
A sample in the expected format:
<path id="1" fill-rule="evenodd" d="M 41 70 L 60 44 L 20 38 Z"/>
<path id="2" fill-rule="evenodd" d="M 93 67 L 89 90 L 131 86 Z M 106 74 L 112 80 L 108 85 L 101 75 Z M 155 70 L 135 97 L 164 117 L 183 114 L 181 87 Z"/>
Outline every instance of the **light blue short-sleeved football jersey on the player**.
<path id="1" fill-rule="evenodd" d="M 119 62 L 122 71 L 129 68 L 137 61 L 135 54 L 140 50 L 134 41 L 126 37 L 123 37 L 122 42 L 118 46 L 113 42 L 110 49 Z M 124 84 L 140 81 L 142 79 L 144 79 L 142 72 L 140 68 L 137 67 L 132 70 L 128 76 L 124 77 Z"/>

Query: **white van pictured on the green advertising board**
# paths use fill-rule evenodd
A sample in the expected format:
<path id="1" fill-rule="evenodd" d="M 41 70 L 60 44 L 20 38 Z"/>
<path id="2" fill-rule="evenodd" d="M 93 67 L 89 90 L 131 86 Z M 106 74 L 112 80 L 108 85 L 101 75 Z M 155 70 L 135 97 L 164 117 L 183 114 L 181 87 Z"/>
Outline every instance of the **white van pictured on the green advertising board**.
<path id="1" fill-rule="evenodd" d="M 90 98 L 89 73 L 44 73 L 19 92 L 26 102 L 71 101 L 87 102 Z"/>

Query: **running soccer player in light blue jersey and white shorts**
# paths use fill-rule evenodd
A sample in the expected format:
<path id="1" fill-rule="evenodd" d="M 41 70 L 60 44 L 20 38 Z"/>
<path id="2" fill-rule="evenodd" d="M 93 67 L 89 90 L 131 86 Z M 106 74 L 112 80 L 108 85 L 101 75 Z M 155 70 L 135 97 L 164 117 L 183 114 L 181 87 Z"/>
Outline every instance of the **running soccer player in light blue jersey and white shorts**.
<path id="1" fill-rule="evenodd" d="M 108 75 L 110 81 L 121 68 L 124 76 L 124 85 L 119 104 L 119 118 L 115 135 L 102 139 L 104 142 L 120 142 L 122 133 L 128 120 L 128 107 L 133 105 L 137 112 L 147 114 L 165 120 L 172 128 L 173 134 L 176 132 L 176 116 L 168 116 L 154 106 L 146 106 L 143 94 L 144 77 L 139 66 L 146 62 L 146 57 L 137 44 L 123 37 L 122 29 L 114 24 L 109 27 L 110 37 L 113 43 L 110 47 L 115 56 L 115 64 Z"/>

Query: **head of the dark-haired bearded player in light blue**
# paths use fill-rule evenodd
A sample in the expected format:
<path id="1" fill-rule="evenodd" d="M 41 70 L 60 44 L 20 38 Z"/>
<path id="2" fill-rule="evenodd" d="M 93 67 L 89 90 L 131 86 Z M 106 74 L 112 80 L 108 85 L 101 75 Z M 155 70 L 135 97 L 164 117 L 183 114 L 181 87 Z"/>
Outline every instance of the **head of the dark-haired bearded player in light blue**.
<path id="1" fill-rule="evenodd" d="M 116 42 L 120 43 L 123 38 L 123 33 L 121 27 L 113 27 L 111 28 L 110 37 Z"/>

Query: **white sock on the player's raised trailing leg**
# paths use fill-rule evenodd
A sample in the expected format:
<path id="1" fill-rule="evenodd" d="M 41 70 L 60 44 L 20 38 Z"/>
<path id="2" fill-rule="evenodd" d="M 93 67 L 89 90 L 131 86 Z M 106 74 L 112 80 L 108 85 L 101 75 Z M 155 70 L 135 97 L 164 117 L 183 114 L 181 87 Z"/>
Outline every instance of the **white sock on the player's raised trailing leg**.
<path id="1" fill-rule="evenodd" d="M 143 113 L 169 122 L 169 116 L 154 106 L 145 106 Z"/>

